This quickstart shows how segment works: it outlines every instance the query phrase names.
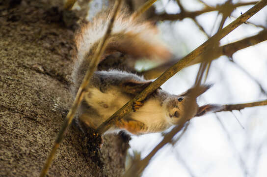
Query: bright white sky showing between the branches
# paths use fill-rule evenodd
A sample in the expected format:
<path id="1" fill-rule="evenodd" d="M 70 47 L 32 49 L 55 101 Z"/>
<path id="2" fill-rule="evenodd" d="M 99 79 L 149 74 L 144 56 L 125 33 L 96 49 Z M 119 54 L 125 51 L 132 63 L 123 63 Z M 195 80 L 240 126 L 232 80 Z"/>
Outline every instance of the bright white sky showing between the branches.
<path id="1" fill-rule="evenodd" d="M 204 1 L 214 6 L 225 0 Z M 197 0 L 183 0 L 182 3 L 190 11 L 203 7 Z M 179 7 L 172 0 L 159 0 L 156 7 L 159 12 L 164 8 L 168 13 L 179 12 Z M 237 8 L 226 24 L 250 7 Z M 197 20 L 208 34 L 214 34 L 213 24 L 219 21 L 216 17 L 217 12 L 210 12 L 199 16 Z M 266 26 L 267 7 L 249 22 Z M 190 19 L 164 22 L 160 24 L 160 29 L 163 39 L 179 56 L 187 55 L 207 40 Z M 253 25 L 243 24 L 222 39 L 221 44 L 254 35 L 260 30 Z M 267 42 L 241 50 L 234 54 L 233 59 L 267 89 Z M 182 70 L 161 88 L 180 94 L 192 86 L 197 69 L 198 65 L 194 65 Z M 214 87 L 201 96 L 200 104 L 245 103 L 266 99 L 255 81 L 226 57 L 213 62 L 208 83 L 214 83 Z M 214 114 L 192 119 L 178 144 L 162 148 L 144 171 L 143 177 L 267 177 L 267 107 L 246 108 L 233 114 L 218 113 L 217 116 L 221 123 Z M 129 152 L 140 151 L 143 158 L 161 139 L 160 133 L 132 136 Z"/>

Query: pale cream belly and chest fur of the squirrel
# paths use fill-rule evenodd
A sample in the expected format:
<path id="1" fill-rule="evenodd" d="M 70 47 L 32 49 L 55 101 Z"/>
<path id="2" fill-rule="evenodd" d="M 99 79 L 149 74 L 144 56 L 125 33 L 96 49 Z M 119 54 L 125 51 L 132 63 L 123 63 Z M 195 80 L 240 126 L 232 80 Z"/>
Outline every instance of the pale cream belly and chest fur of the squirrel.
<path id="1" fill-rule="evenodd" d="M 98 111 L 103 118 L 102 121 L 113 115 L 131 99 L 129 95 L 122 93 L 116 87 L 108 89 L 105 93 L 96 88 L 89 88 L 86 94 L 90 95 L 90 97 L 85 95 L 86 102 Z M 130 113 L 130 117 L 145 123 L 149 129 L 155 129 L 166 121 L 167 115 L 160 101 L 151 97 L 138 111 Z"/>

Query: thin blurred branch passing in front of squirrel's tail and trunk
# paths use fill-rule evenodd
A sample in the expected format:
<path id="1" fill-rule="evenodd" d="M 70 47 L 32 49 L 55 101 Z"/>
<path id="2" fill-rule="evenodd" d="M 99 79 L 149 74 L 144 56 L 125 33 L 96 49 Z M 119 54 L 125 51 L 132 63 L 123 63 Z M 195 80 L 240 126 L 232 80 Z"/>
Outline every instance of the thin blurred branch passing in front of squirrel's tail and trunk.
<path id="1" fill-rule="evenodd" d="M 116 16 L 118 15 L 121 1 L 122 0 L 116 0 L 115 1 L 114 14 L 112 15 L 112 18 L 109 21 L 109 24 L 108 24 L 108 27 L 107 27 L 107 31 L 106 31 L 104 37 L 102 38 L 102 40 L 100 41 L 98 47 L 97 47 L 95 55 L 94 55 L 90 65 L 89 65 L 88 70 L 86 71 L 86 74 L 85 74 L 85 76 L 84 76 L 84 78 L 82 80 L 82 83 L 80 85 L 80 88 L 79 88 L 79 90 L 77 92 L 77 95 L 75 97 L 73 105 L 72 105 L 67 117 L 65 118 L 65 120 L 63 122 L 62 128 L 58 133 L 58 136 L 57 136 L 57 138 L 56 138 L 56 140 L 54 142 L 53 148 L 52 148 L 52 150 L 51 150 L 51 152 L 50 152 L 50 154 L 49 154 L 49 156 L 47 158 L 47 161 L 46 161 L 46 163 L 45 163 L 45 165 L 44 165 L 44 167 L 42 169 L 40 177 L 45 177 L 45 175 L 47 174 L 47 171 L 48 171 L 48 169 L 49 169 L 49 167 L 50 167 L 50 165 L 51 165 L 51 163 L 53 161 L 56 149 L 59 147 L 59 144 L 62 142 L 62 140 L 64 138 L 64 134 L 66 133 L 69 125 L 71 124 L 71 122 L 72 122 L 72 120 L 74 118 L 75 112 L 77 111 L 77 109 L 79 107 L 79 104 L 80 104 L 81 100 L 83 99 L 85 88 L 89 84 L 89 81 L 90 81 L 93 73 L 96 71 L 96 68 L 97 68 L 97 65 L 99 63 L 99 60 L 100 60 L 101 56 L 103 55 L 104 50 L 106 48 L 107 38 L 109 37 L 109 35 L 111 33 L 114 20 L 115 20 Z"/>

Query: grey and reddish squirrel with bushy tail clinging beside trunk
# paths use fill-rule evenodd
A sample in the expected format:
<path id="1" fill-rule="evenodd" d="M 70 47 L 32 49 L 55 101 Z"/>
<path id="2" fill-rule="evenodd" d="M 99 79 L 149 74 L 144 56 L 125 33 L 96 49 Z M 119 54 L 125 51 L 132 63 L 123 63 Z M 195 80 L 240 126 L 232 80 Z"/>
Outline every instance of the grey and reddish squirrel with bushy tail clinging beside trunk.
<path id="1" fill-rule="evenodd" d="M 110 18 L 109 12 L 102 12 L 92 22 L 82 25 L 76 32 L 77 52 L 74 57 L 72 73 L 74 96 L 98 43 L 104 36 Z M 158 30 L 151 23 L 135 20 L 122 11 L 114 21 L 112 33 L 108 38 L 107 48 L 99 66 L 110 57 L 127 56 L 131 60 L 139 58 L 170 59 L 172 55 L 156 37 L 157 32 Z M 105 71 L 99 67 L 86 88 L 78 113 L 79 120 L 96 129 L 151 82 L 131 72 L 114 68 Z M 193 87 L 180 95 L 173 95 L 158 89 L 149 95 L 144 103 L 134 105 L 134 112 L 118 120 L 112 128 L 107 130 L 107 133 L 116 130 L 127 130 L 135 135 L 162 132 L 179 123 L 179 120 L 185 115 L 185 106 L 192 96 L 192 92 L 194 92 L 195 98 L 190 102 L 192 110 L 189 116 L 191 118 L 214 111 L 216 106 L 199 107 L 196 102 L 196 97 L 210 87 L 210 85 L 203 85 L 198 89 Z M 137 109 L 138 111 L 136 111 Z"/>

